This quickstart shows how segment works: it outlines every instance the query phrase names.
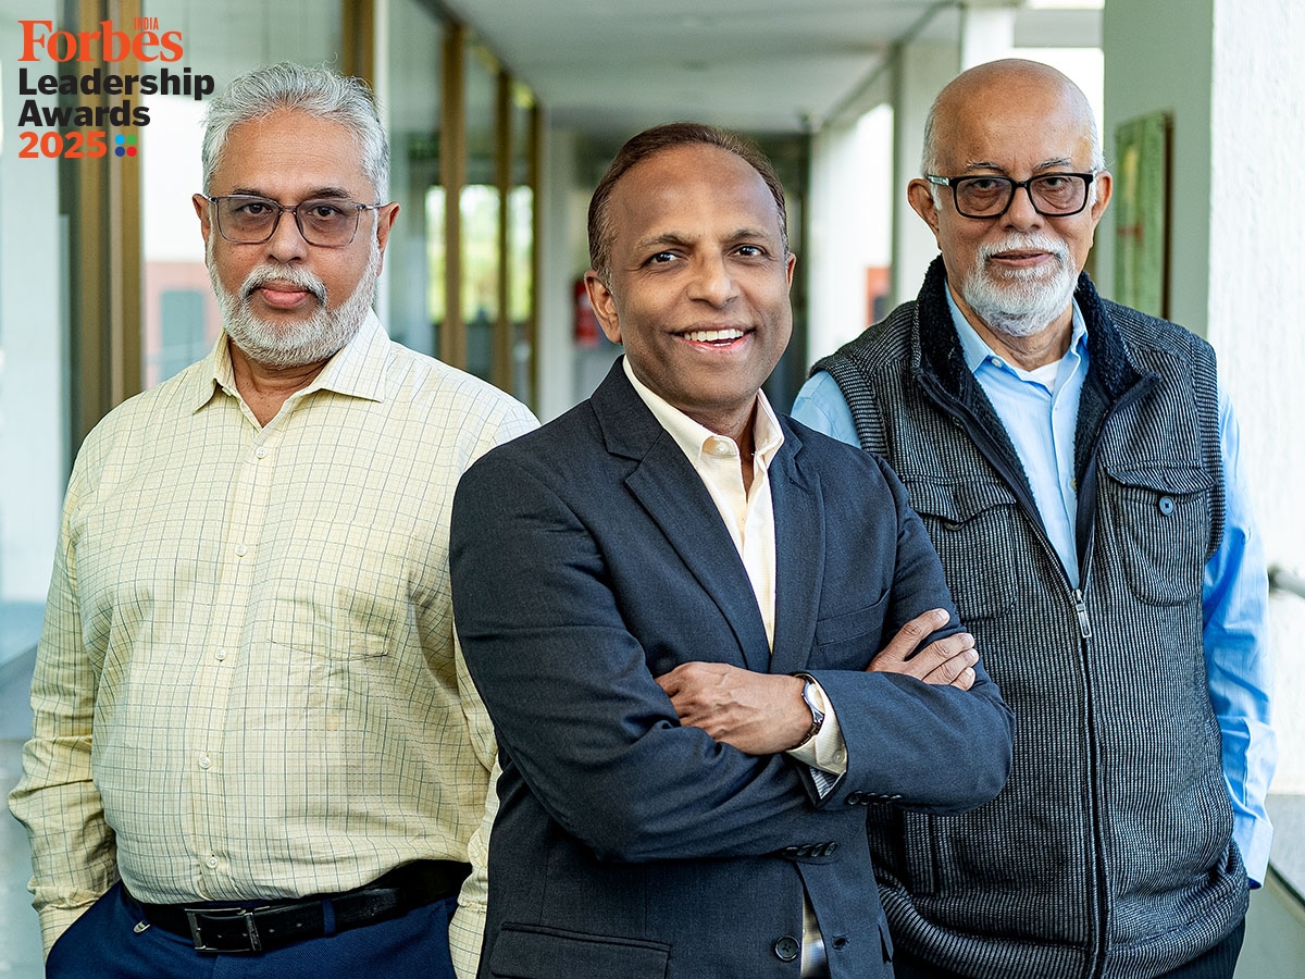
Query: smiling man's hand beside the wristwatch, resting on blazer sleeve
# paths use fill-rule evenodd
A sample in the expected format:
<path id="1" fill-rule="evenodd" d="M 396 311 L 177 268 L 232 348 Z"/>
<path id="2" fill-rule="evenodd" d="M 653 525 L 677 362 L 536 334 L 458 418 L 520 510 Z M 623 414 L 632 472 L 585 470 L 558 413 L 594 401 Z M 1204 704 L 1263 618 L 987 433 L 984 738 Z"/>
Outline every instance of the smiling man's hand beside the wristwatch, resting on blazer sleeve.
<path id="1" fill-rule="evenodd" d="M 656 681 L 681 724 L 701 727 L 745 754 L 788 751 L 812 726 L 796 676 L 754 674 L 726 663 L 681 663 Z"/>

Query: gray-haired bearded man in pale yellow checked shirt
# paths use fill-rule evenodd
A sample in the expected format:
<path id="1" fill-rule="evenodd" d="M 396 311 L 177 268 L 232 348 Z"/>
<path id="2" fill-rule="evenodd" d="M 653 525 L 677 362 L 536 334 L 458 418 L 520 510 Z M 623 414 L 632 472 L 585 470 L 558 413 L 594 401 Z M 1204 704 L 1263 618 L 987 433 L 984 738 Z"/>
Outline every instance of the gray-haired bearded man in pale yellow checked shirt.
<path id="1" fill-rule="evenodd" d="M 448 513 L 535 420 L 386 337 L 386 183 L 356 80 L 279 64 L 210 106 L 224 332 L 95 427 L 64 506 L 10 796 L 48 976 L 452 976 L 458 937 L 475 961 L 449 923 L 493 740 Z"/>

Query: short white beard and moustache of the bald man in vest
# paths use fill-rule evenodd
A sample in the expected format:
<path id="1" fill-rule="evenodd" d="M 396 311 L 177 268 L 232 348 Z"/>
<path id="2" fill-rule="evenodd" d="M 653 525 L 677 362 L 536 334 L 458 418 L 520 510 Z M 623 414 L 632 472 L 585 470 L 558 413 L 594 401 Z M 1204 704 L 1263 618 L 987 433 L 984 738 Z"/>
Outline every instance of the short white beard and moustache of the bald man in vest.
<path id="1" fill-rule="evenodd" d="M 1056 257 L 1056 268 L 1004 270 L 993 275 L 988 258 L 1000 252 L 1036 249 Z M 960 283 L 960 295 L 988 326 L 1007 337 L 1031 337 L 1065 309 L 1074 298 L 1078 275 L 1064 243 L 1043 235 L 1009 235 L 983 245 L 975 270 Z"/>

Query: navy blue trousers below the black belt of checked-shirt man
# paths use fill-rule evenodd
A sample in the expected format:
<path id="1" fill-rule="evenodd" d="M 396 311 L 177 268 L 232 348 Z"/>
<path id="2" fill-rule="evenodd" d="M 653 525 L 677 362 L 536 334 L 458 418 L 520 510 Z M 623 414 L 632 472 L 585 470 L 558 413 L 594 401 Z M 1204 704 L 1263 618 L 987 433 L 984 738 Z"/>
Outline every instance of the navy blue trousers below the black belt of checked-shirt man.
<path id="1" fill-rule="evenodd" d="M 137 931 L 145 914 L 116 884 L 59 936 L 46 979 L 454 979 L 449 919 L 457 897 L 402 918 L 309 939 L 274 952 L 196 952 L 162 928 Z"/>

